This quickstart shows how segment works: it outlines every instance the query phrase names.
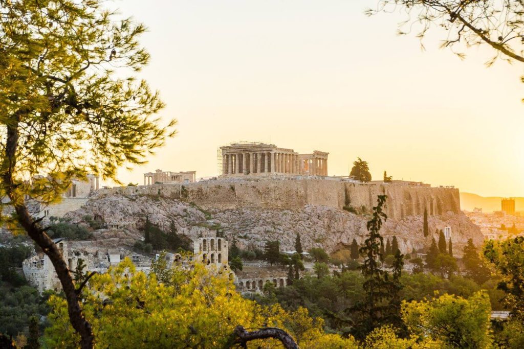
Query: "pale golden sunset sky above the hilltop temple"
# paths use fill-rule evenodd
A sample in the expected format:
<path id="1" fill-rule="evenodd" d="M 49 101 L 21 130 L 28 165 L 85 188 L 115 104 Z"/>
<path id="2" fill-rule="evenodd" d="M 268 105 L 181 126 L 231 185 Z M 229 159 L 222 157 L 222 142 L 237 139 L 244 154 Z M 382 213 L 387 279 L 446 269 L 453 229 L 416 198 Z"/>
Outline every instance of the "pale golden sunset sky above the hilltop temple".
<path id="1" fill-rule="evenodd" d="M 216 150 L 263 141 L 328 151 L 329 174 L 357 156 L 374 179 L 524 196 L 522 67 L 486 69 L 487 49 L 460 60 L 433 32 L 397 36 L 401 14 L 366 17 L 376 0 L 117 1 L 144 22 L 151 63 L 140 74 L 179 120 L 147 165 L 119 171 L 216 174 Z"/>

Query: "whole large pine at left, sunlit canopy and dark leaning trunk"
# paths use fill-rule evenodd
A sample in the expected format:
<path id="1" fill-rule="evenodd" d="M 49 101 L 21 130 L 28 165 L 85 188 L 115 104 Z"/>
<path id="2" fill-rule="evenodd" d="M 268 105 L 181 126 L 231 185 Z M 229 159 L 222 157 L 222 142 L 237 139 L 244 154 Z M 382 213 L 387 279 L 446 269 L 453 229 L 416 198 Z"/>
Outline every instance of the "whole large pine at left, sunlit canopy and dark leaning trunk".
<path id="1" fill-rule="evenodd" d="M 159 94 L 135 77 L 149 61 L 138 42 L 146 28 L 103 6 L 0 2 L 0 192 L 16 212 L 2 219 L 49 256 L 86 348 L 93 335 L 73 278 L 25 199 L 56 202 L 73 178 L 88 173 L 117 181 L 117 168 L 144 163 L 175 123 L 160 125 Z"/>

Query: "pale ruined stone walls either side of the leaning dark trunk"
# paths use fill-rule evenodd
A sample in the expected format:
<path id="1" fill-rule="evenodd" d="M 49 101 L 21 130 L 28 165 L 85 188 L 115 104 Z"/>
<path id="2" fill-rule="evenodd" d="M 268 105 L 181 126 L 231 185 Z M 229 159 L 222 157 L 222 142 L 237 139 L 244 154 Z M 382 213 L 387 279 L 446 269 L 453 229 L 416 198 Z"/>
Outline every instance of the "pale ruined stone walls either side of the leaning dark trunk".
<path id="1" fill-rule="evenodd" d="M 125 257 L 131 258 L 137 271 L 148 273 L 151 268 L 151 258 L 132 251 L 92 247 L 89 241 L 68 243 L 59 238 L 54 239 L 53 242 L 58 245 L 71 271 L 74 271 L 80 260 L 83 260 L 86 266 L 85 271 L 105 273 L 110 266 L 117 265 Z M 43 252 L 27 258 L 22 263 L 22 269 L 29 284 L 36 287 L 40 294 L 45 290 L 59 291 L 62 288 L 51 260 Z"/>

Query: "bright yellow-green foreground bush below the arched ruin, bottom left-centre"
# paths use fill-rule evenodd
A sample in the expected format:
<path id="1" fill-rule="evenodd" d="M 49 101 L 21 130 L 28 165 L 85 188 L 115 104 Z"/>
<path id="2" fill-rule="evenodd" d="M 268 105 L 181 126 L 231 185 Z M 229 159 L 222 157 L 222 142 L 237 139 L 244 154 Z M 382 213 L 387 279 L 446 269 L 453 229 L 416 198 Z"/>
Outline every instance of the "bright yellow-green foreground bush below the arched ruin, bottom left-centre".
<path id="1" fill-rule="evenodd" d="M 353 339 L 325 334 L 323 320 L 313 320 L 306 309 L 286 312 L 242 298 L 231 280 L 214 277 L 199 264 L 189 270 L 173 269 L 170 282 L 159 283 L 154 273 L 137 272 L 126 258 L 108 273 L 93 276 L 84 297 L 96 348 L 222 347 L 237 325 L 285 329 L 305 348 L 357 347 Z M 46 345 L 77 346 L 79 336 L 69 323 L 65 301 L 52 297 L 50 305 Z M 253 345 L 280 343 L 266 340 Z"/>

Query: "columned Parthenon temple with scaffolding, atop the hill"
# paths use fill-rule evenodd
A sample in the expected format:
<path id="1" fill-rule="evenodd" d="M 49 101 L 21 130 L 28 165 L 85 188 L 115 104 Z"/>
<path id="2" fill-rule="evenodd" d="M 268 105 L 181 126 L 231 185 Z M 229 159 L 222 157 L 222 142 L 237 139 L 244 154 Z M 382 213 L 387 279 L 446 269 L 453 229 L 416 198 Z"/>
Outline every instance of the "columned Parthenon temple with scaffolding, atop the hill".
<path id="1" fill-rule="evenodd" d="M 222 150 L 222 176 L 328 175 L 327 152 L 299 154 L 275 144 L 234 143 Z"/>

